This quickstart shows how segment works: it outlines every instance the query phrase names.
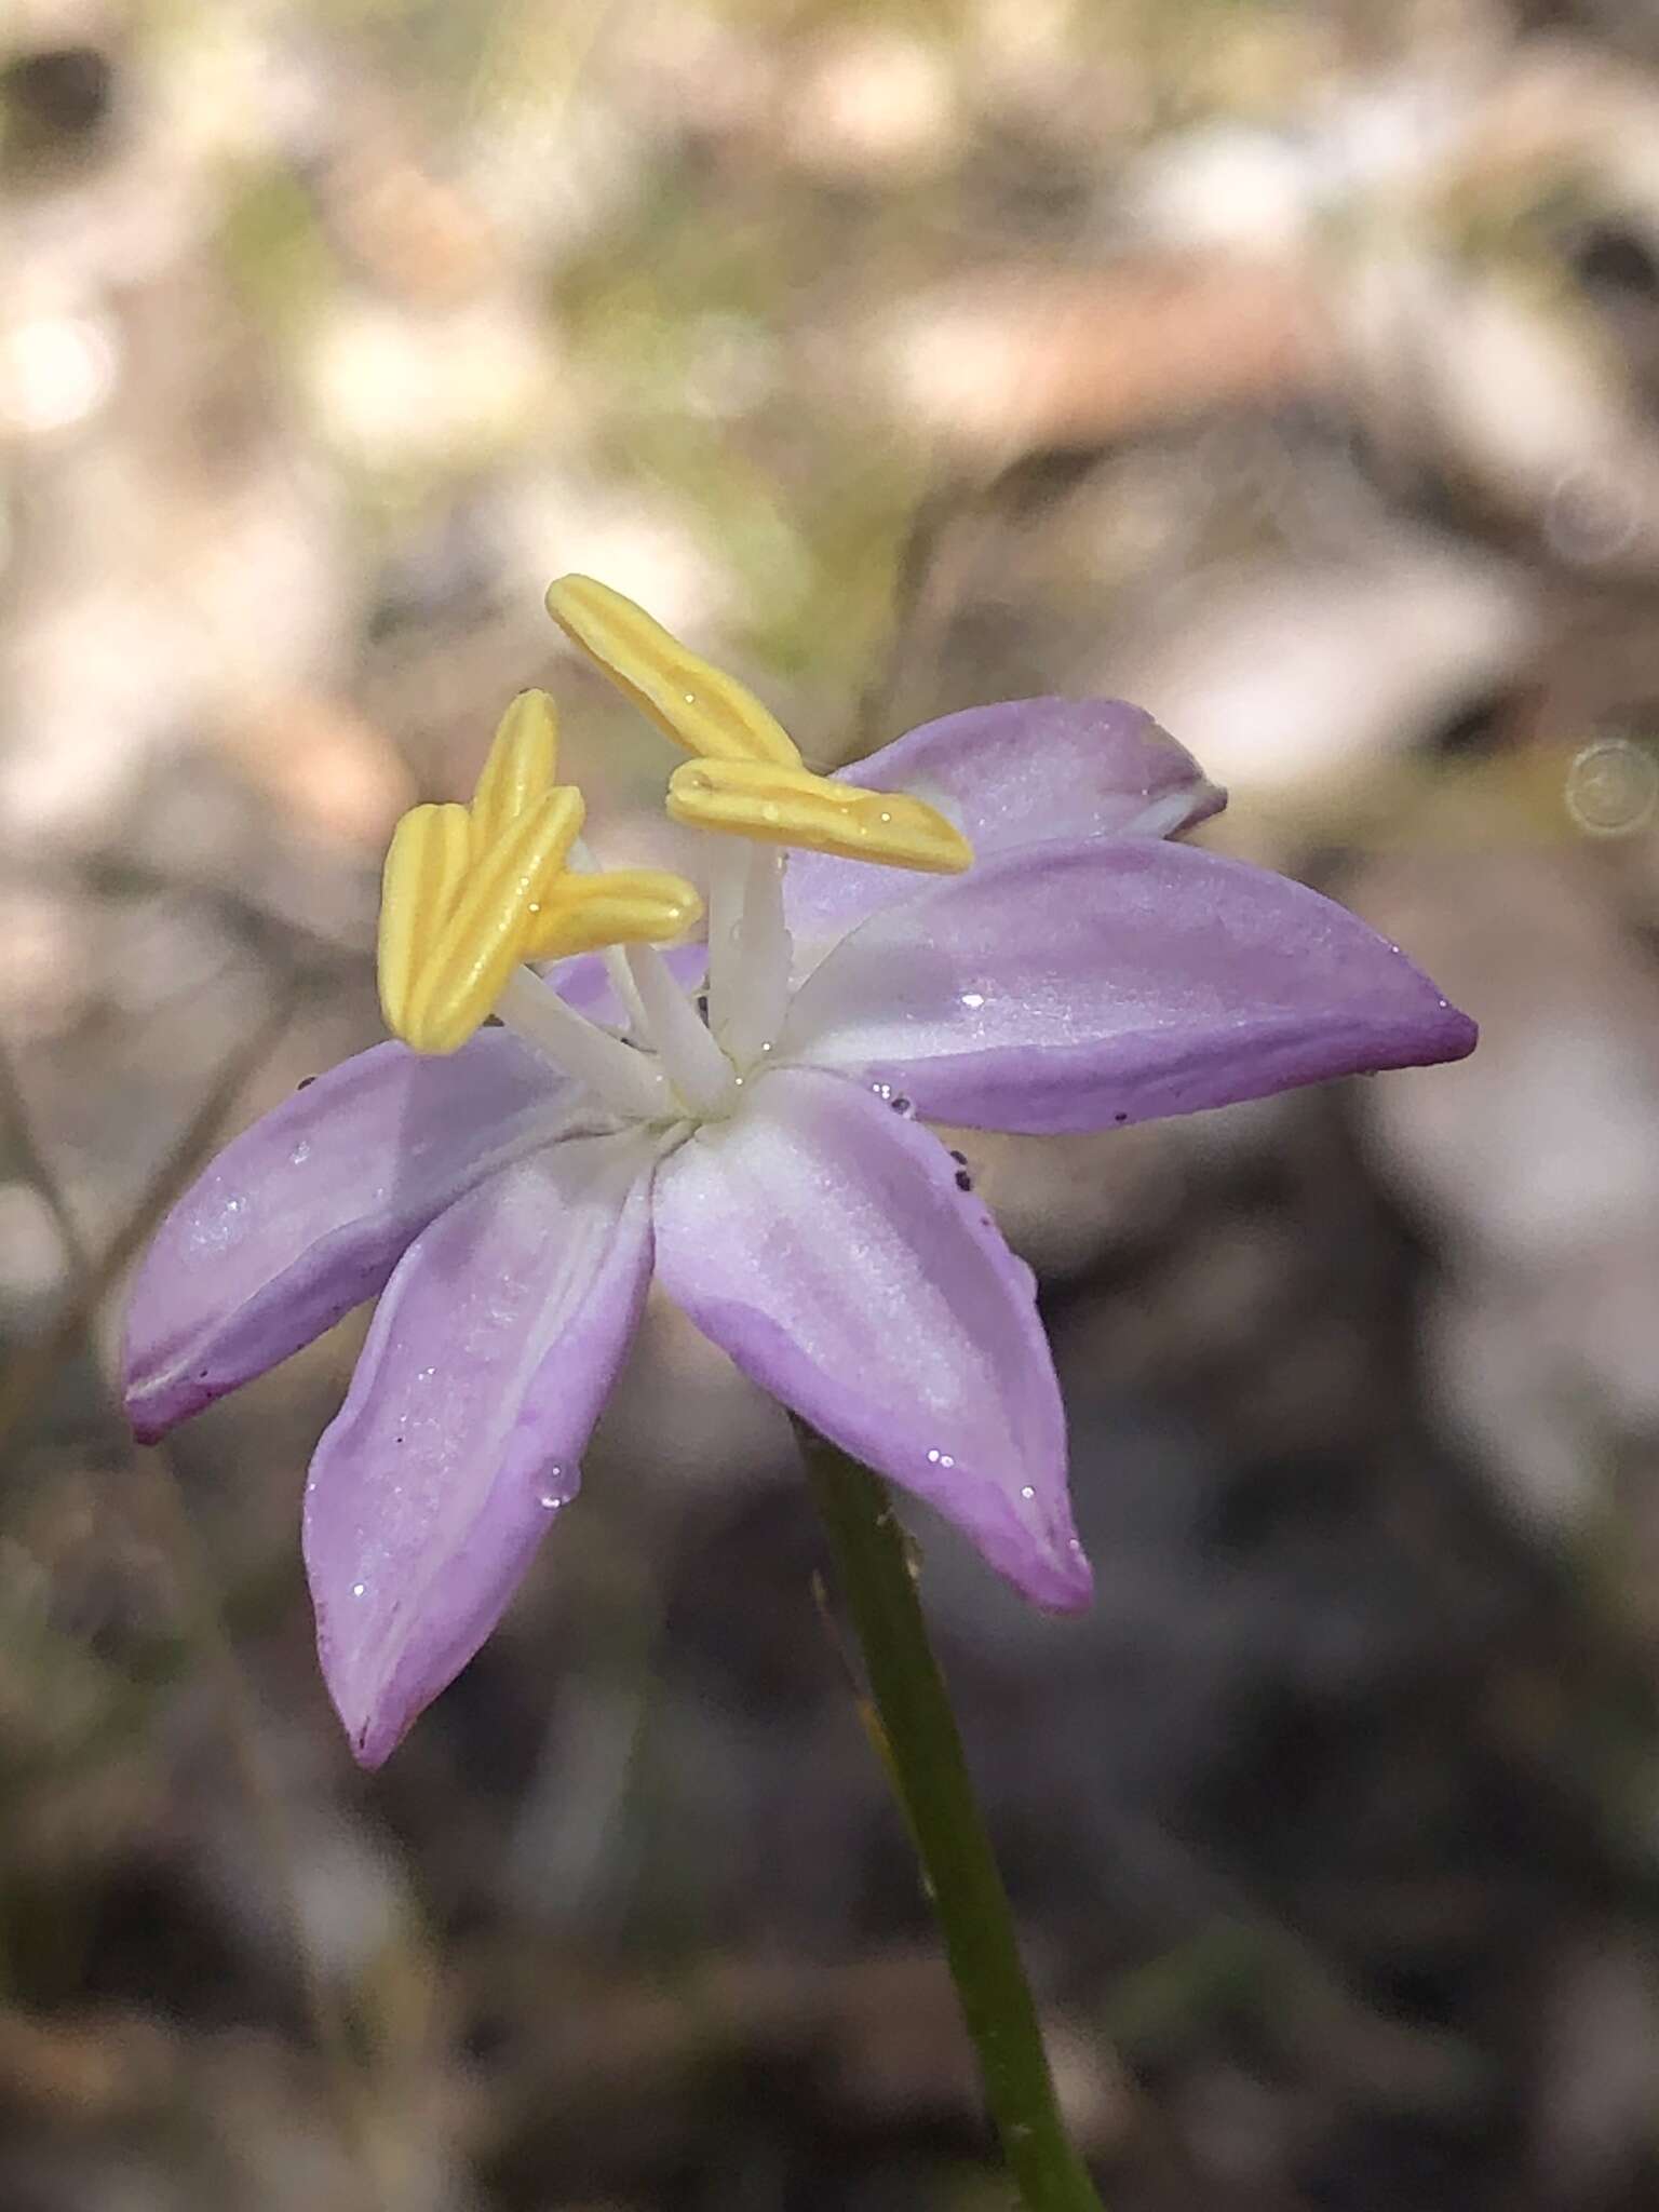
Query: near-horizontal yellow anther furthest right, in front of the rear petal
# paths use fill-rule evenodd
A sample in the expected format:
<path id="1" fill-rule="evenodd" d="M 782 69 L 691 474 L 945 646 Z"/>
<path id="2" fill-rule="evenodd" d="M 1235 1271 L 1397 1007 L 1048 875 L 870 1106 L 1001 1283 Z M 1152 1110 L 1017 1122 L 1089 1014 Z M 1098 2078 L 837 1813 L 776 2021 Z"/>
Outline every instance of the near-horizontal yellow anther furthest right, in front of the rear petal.
<path id="1" fill-rule="evenodd" d="M 883 860 L 936 876 L 956 876 L 973 863 L 962 832 L 925 799 L 865 792 L 807 768 L 686 761 L 668 779 L 668 812 L 699 830 L 834 852 L 843 860 Z"/>

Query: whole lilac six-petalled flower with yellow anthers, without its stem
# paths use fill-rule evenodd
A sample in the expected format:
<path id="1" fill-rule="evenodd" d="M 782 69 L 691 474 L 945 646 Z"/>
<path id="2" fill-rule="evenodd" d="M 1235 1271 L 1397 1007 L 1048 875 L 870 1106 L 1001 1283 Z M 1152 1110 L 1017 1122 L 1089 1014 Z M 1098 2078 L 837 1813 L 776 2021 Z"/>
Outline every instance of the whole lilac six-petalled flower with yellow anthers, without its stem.
<path id="1" fill-rule="evenodd" d="M 816 776 L 630 602 L 566 577 L 549 606 L 690 752 L 668 805 L 708 832 L 706 942 L 657 949 L 690 883 L 591 867 L 526 692 L 471 807 L 416 807 L 387 856 L 403 1042 L 237 1137 L 131 1301 L 148 1440 L 380 1294 L 303 1531 L 365 1765 L 575 1495 L 653 1272 L 1026 1597 L 1082 1606 L 1033 1279 L 925 1121 L 1108 1128 L 1475 1042 L 1343 907 L 1170 843 L 1223 794 L 1137 708 L 975 708 Z"/>

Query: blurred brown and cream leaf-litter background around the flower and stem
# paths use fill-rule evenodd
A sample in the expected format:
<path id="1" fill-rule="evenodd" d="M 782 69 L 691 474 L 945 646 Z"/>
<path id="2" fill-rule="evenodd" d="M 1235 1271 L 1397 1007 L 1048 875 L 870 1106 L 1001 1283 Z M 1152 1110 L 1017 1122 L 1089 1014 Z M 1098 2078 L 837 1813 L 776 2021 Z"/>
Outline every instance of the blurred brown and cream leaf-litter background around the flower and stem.
<path id="1" fill-rule="evenodd" d="M 821 765 L 1148 703 L 1464 1066 L 964 1146 L 1099 1568 L 925 1593 L 1115 2212 L 1659 2194 L 1652 0 L 7 0 L 0 2205 L 1006 2203 L 779 1418 L 668 1310 L 361 1776 L 361 1316 L 135 1453 L 119 1301 L 378 1035 L 396 814 L 591 571 Z"/>

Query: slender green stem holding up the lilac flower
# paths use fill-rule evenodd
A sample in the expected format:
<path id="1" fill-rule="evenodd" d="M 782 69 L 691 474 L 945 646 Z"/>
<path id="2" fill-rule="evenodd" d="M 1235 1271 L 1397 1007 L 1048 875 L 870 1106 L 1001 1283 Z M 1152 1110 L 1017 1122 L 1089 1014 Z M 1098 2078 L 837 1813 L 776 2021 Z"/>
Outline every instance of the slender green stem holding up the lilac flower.
<path id="1" fill-rule="evenodd" d="M 1009 1893 L 927 1639 L 909 1542 L 878 1475 L 805 1422 L 796 1422 L 796 1433 L 863 1646 L 880 1750 L 922 1860 L 1009 2172 L 1026 2212 L 1102 2212 L 1055 2104 Z"/>

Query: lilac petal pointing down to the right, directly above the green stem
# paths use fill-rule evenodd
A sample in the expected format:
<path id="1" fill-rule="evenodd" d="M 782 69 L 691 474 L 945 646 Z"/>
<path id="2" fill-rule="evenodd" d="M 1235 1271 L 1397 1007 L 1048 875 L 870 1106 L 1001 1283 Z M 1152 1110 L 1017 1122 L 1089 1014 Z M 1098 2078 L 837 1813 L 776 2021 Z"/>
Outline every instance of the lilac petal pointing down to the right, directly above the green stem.
<path id="1" fill-rule="evenodd" d="M 1031 1272 L 929 1130 L 781 1068 L 664 1164 L 655 1217 L 664 1287 L 743 1374 L 938 1506 L 1026 1597 L 1086 1604 Z"/>

